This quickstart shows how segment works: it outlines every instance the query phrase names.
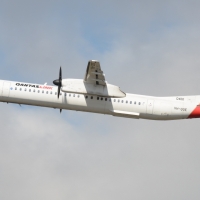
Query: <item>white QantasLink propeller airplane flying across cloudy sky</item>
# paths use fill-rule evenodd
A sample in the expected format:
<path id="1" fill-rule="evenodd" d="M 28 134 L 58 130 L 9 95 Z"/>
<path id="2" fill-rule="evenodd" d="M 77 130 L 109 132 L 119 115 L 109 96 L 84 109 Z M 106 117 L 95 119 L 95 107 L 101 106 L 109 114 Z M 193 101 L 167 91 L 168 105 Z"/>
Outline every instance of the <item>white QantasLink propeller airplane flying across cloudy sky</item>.
<path id="1" fill-rule="evenodd" d="M 100 62 L 90 60 L 85 78 L 59 79 L 55 86 L 0 80 L 0 102 L 117 117 L 176 120 L 200 118 L 200 96 L 153 97 L 123 92 L 108 84 Z"/>

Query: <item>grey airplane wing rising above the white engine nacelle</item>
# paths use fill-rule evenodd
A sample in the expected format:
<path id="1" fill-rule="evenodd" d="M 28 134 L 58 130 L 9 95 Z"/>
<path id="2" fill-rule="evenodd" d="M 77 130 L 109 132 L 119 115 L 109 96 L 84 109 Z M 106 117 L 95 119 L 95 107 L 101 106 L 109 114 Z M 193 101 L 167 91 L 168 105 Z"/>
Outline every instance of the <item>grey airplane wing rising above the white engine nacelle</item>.
<path id="1" fill-rule="evenodd" d="M 103 71 L 101 71 L 99 61 L 90 60 L 88 62 L 84 81 L 96 85 L 106 85 L 105 74 L 103 74 Z"/>

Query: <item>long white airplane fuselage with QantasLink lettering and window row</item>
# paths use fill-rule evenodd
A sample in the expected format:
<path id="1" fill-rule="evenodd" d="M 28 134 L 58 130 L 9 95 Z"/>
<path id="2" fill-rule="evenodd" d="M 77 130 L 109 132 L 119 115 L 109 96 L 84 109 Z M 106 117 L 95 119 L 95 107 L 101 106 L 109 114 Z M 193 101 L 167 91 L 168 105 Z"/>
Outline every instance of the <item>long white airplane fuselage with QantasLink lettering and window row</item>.
<path id="1" fill-rule="evenodd" d="M 57 109 L 151 120 L 200 117 L 200 96 L 152 97 L 126 94 L 123 98 L 61 92 L 57 87 L 0 81 L 0 101 Z"/>

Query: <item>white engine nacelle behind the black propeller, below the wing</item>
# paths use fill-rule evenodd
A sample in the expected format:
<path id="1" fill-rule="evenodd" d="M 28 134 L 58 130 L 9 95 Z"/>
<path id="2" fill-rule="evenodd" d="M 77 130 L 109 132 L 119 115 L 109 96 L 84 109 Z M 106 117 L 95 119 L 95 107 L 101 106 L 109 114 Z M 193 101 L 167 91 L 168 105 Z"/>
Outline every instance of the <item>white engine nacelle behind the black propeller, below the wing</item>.
<path id="1" fill-rule="evenodd" d="M 116 85 L 94 85 L 81 79 L 63 79 L 61 90 L 63 92 L 89 94 L 103 97 L 122 98 L 126 96 L 126 94 Z"/>

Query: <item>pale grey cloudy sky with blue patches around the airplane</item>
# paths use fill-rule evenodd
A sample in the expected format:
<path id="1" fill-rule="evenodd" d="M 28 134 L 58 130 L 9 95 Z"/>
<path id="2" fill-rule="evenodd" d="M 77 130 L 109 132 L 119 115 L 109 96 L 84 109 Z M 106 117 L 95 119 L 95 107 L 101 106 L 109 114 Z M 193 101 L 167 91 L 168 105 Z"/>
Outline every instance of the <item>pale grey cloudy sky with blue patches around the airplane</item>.
<path id="1" fill-rule="evenodd" d="M 0 79 L 83 78 L 200 94 L 199 1 L 0 2 Z M 200 198 L 199 120 L 155 122 L 0 104 L 0 199 Z"/>

